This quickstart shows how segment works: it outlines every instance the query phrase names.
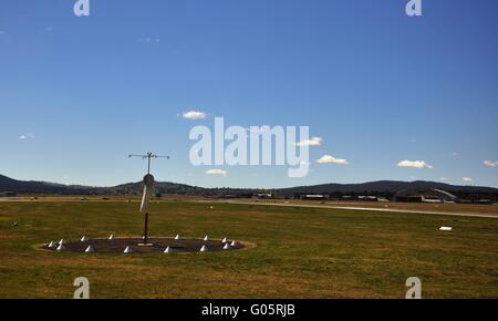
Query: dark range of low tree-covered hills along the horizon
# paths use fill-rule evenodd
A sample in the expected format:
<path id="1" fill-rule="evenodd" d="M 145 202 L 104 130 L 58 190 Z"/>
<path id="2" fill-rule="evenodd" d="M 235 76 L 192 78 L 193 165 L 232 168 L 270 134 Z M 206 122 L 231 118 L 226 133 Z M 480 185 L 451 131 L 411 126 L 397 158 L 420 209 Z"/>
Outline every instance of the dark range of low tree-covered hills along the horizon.
<path id="1" fill-rule="evenodd" d="M 402 189 L 425 190 L 438 188 L 453 193 L 460 198 L 491 198 L 498 199 L 498 188 L 479 186 L 458 186 L 436 182 L 397 182 L 378 180 L 363 184 L 323 184 L 291 188 L 271 189 L 278 196 L 292 197 L 295 194 L 328 194 L 328 195 L 376 195 L 391 197 Z M 0 191 L 15 191 L 18 194 L 62 194 L 62 195 L 141 195 L 142 182 L 128 183 L 114 187 L 90 187 L 62 185 L 46 182 L 23 182 L 0 175 Z M 157 182 L 155 193 L 176 195 L 199 195 L 236 197 L 250 196 L 261 189 L 245 188 L 204 188 L 169 182 Z"/>

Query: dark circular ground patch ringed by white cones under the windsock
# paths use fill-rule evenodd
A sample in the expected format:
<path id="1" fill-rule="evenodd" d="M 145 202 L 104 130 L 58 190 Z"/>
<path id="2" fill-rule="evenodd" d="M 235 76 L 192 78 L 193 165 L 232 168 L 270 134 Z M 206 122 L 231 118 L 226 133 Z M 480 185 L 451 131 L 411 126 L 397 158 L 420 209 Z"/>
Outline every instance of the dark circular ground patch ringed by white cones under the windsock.
<path id="1" fill-rule="evenodd" d="M 116 239 L 90 239 L 87 241 L 74 241 L 64 244 L 64 249 L 58 251 L 56 247 L 49 248 L 43 245 L 42 249 L 58 252 L 81 252 L 84 253 L 89 246 L 92 246 L 96 253 L 123 253 L 126 247 L 132 249 L 133 253 L 164 253 L 169 247 L 172 252 L 200 252 L 203 246 L 206 246 L 208 252 L 211 251 L 230 251 L 245 248 L 243 244 L 237 242 L 229 249 L 224 249 L 225 245 L 221 240 L 203 239 L 174 239 L 174 238 L 149 238 L 152 246 L 141 246 L 144 240 L 142 238 L 116 238 Z M 231 241 L 230 241 L 231 242 Z M 229 242 L 229 244 L 230 244 Z"/>

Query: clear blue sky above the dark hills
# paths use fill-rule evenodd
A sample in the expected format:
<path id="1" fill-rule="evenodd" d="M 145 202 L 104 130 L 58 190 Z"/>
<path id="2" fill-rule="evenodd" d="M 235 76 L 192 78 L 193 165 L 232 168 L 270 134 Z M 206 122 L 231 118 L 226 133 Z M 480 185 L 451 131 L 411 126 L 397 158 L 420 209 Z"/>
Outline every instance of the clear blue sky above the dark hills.
<path id="1" fill-rule="evenodd" d="M 0 174 L 117 185 L 143 175 L 128 153 L 154 151 L 173 156 L 156 179 L 199 186 L 498 187 L 498 1 L 406 2 L 91 0 L 76 18 L 70 0 L 0 0 Z M 215 116 L 310 126 L 312 172 L 191 166 L 188 133 Z"/>

